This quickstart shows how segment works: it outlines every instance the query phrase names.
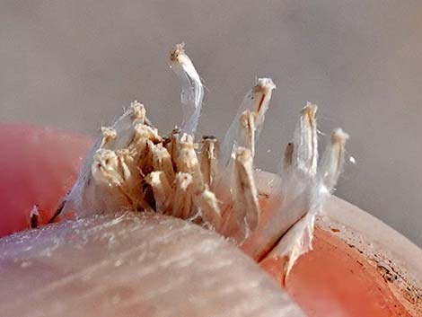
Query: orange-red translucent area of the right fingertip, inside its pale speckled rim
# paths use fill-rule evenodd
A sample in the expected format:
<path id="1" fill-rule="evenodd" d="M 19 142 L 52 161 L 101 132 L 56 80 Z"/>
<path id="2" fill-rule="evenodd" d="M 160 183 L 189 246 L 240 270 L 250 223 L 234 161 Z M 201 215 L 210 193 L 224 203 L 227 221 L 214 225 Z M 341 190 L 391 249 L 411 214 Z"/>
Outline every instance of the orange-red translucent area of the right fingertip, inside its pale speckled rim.
<path id="1" fill-rule="evenodd" d="M 282 284 L 285 260 L 268 257 L 260 265 Z M 310 317 L 411 317 L 389 282 L 363 254 L 317 228 L 313 250 L 296 262 L 286 290 Z M 400 298 L 400 299 L 399 299 Z"/>

